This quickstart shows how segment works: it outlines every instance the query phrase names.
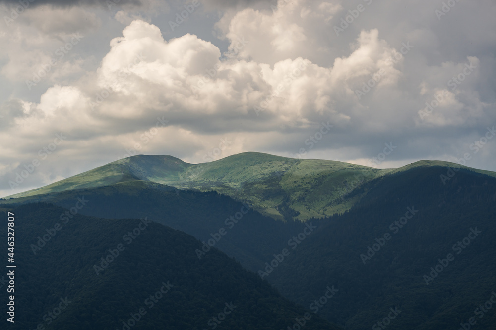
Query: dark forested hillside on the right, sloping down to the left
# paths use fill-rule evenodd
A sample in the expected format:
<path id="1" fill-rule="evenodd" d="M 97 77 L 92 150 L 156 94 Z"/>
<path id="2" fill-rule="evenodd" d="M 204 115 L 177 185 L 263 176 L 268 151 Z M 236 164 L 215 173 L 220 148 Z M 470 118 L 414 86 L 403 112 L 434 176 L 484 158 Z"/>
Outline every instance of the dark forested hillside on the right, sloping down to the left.
<path id="1" fill-rule="evenodd" d="M 389 316 L 387 329 L 458 329 L 472 317 L 474 329 L 494 329 L 484 304 L 496 292 L 496 180 L 462 170 L 444 185 L 445 173 L 413 169 L 360 188 L 366 197 L 326 219 L 269 281 L 305 306 L 334 285 L 319 314 L 346 329 L 381 329 Z"/>

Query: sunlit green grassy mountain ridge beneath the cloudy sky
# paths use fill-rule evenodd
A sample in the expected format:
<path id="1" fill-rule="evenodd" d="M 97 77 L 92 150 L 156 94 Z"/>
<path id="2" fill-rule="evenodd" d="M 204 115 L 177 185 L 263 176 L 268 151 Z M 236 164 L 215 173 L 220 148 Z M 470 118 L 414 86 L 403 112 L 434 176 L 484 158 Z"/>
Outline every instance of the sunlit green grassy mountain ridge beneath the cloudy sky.
<path id="1" fill-rule="evenodd" d="M 146 181 L 178 189 L 215 190 L 249 202 L 255 210 L 274 219 L 305 220 L 350 209 L 361 196 L 344 197 L 372 179 L 426 166 L 460 167 L 448 162 L 420 161 L 399 169 L 375 169 L 337 161 L 293 159 L 258 152 L 245 152 L 202 164 L 188 164 L 172 156 L 137 155 L 7 198 Z M 490 171 L 471 170 L 496 175 Z"/>

